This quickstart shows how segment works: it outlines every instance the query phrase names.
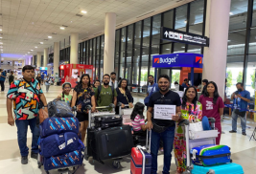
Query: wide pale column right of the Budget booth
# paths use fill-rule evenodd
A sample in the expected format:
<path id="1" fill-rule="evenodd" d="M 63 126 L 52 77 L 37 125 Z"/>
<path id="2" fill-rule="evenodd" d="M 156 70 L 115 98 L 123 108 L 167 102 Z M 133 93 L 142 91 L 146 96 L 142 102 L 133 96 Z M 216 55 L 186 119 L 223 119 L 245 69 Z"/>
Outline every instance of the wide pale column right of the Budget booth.
<path id="1" fill-rule="evenodd" d="M 207 1 L 205 35 L 210 47 L 204 48 L 202 79 L 215 81 L 224 98 L 226 54 L 231 0 Z"/>

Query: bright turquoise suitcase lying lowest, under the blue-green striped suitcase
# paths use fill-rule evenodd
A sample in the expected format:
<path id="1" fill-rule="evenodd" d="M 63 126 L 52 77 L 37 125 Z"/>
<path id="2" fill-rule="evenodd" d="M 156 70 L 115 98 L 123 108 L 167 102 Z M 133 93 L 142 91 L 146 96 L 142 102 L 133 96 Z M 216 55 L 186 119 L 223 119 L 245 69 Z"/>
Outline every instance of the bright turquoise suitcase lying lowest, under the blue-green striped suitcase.
<path id="1" fill-rule="evenodd" d="M 243 167 L 237 163 L 226 163 L 215 166 L 194 165 L 192 174 L 208 174 L 208 172 L 211 174 L 213 171 L 215 174 L 244 174 Z"/>

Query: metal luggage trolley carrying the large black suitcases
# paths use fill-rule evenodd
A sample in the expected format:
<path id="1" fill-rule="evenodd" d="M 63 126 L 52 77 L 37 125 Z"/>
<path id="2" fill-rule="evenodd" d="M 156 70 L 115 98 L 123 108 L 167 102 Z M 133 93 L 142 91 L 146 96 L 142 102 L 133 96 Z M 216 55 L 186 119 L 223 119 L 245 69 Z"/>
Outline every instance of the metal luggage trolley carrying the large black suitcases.
<path id="1" fill-rule="evenodd" d="M 119 105 L 118 105 L 119 106 Z M 121 109 L 121 106 L 119 106 L 120 109 Z M 112 108 L 111 111 L 109 112 L 109 108 Z M 109 104 L 109 106 L 101 106 L 101 107 L 96 107 L 96 109 L 101 109 L 102 111 L 98 111 L 98 112 L 95 112 L 95 113 L 92 113 L 91 112 L 91 106 L 88 105 L 87 108 L 88 109 L 88 128 L 90 129 L 95 129 L 95 117 L 104 117 L 104 116 L 115 116 L 115 105 L 113 103 Z M 98 131 L 101 131 L 102 129 L 101 128 L 98 128 Z M 87 131 L 87 136 L 88 136 L 88 131 Z M 84 159 L 86 161 L 88 161 L 89 157 L 92 156 L 91 153 L 88 151 L 88 138 L 86 138 L 86 147 L 85 147 L 85 150 L 84 150 Z M 97 160 L 98 161 L 98 160 Z M 120 168 L 121 167 L 121 162 L 123 161 L 123 156 L 122 157 L 118 157 L 118 158 L 113 158 L 113 167 L 114 168 Z M 98 162 L 100 163 L 103 163 L 103 161 L 99 160 Z"/>

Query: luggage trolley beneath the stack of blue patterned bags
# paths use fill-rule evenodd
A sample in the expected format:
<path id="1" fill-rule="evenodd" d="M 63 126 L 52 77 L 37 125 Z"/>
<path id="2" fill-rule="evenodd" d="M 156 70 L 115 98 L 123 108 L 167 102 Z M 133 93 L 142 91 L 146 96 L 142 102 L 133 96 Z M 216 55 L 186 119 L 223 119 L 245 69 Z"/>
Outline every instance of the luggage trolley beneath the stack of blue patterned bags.
<path id="1" fill-rule="evenodd" d="M 74 118 L 76 118 L 76 116 L 77 116 L 76 107 L 73 107 L 72 111 L 74 112 Z M 40 151 L 39 144 L 38 144 L 38 149 Z M 40 153 L 38 153 L 37 166 L 38 166 L 38 168 L 41 168 L 42 165 L 43 165 L 43 156 L 41 156 Z M 74 165 L 74 166 L 68 166 L 68 167 L 59 167 L 59 168 L 53 169 L 53 170 L 57 170 L 59 174 L 75 174 L 80 166 L 81 165 Z M 45 170 L 45 172 L 46 172 L 46 174 L 50 174 L 50 172 L 48 170 Z"/>

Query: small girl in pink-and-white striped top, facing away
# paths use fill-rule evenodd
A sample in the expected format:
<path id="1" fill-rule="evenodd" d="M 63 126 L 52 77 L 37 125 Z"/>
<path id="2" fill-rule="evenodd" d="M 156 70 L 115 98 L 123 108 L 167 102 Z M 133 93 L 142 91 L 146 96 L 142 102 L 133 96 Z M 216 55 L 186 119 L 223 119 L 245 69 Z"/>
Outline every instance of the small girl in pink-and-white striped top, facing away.
<path id="1" fill-rule="evenodd" d="M 147 132 L 145 131 L 147 129 L 145 125 L 145 117 L 143 116 L 144 108 L 144 104 L 137 102 L 130 115 L 134 135 L 147 135 Z"/>

